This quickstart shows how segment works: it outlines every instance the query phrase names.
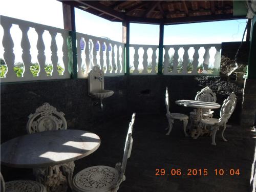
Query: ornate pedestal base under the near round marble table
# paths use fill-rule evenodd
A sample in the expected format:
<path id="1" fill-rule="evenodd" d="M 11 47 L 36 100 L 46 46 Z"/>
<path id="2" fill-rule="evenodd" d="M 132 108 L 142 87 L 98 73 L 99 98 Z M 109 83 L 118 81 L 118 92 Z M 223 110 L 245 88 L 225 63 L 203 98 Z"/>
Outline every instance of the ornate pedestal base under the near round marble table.
<path id="1" fill-rule="evenodd" d="M 59 169 L 62 168 L 62 172 Z M 36 181 L 45 185 L 49 192 L 66 192 L 68 185 L 72 187 L 72 176 L 75 164 L 73 161 L 62 165 L 54 165 L 45 168 L 34 168 L 33 174 Z"/>

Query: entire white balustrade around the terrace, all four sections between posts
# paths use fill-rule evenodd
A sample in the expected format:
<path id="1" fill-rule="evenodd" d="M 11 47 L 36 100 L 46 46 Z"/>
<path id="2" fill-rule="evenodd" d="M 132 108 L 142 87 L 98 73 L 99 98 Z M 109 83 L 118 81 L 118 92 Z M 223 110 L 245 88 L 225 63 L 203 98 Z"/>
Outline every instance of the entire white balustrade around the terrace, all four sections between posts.
<path id="1" fill-rule="evenodd" d="M 58 29 L 46 25 L 40 25 L 25 20 L 1 16 L 3 27 L 4 60 L 7 66 L 2 82 L 50 80 L 70 78 L 69 62 L 72 55 L 69 53 L 67 30 Z M 14 41 L 10 32 L 13 25 L 17 25 L 22 32 L 20 48 L 22 48 L 22 61 L 24 69 L 22 77 L 17 77 L 14 71 L 15 54 Z M 37 34 L 37 75 L 31 73 L 31 42 L 28 37 L 30 28 L 34 28 Z M 43 35 L 49 32 L 51 38 L 51 65 L 52 72 L 46 72 L 46 42 Z M 56 36 L 60 34 L 62 47 L 56 42 Z M 87 78 L 92 67 L 98 65 L 105 76 L 124 75 L 124 44 L 106 38 L 95 37 L 82 33 L 76 33 L 77 37 L 77 74 L 79 78 Z M 16 42 L 15 42 L 16 43 Z M 15 44 L 15 46 L 17 46 Z M 191 50 L 194 49 L 194 53 Z M 58 57 L 58 50 L 63 53 Z M 158 50 L 155 45 L 130 45 L 130 74 L 131 75 L 156 75 L 158 73 Z M 163 48 L 163 74 L 164 75 L 219 75 L 221 60 L 221 44 L 201 45 L 167 45 Z M 184 52 L 184 53 L 183 53 Z M 59 74 L 59 62 L 62 59 L 64 71 Z M 201 67 L 200 67 L 201 66 Z"/>

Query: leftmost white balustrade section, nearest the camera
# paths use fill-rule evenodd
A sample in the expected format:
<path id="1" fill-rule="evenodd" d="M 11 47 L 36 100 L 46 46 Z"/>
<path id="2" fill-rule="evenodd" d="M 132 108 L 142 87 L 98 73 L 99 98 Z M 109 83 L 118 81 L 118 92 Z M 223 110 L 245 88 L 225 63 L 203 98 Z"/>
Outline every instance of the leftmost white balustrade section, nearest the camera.
<path id="1" fill-rule="evenodd" d="M 31 80 L 50 80 L 50 79 L 65 79 L 70 78 L 70 74 L 68 72 L 68 48 L 67 48 L 67 38 L 69 36 L 67 30 L 50 27 L 46 25 L 40 25 L 32 22 L 27 22 L 25 20 L 20 20 L 16 18 L 11 18 L 7 16 L 0 15 L 1 19 L 1 26 L 4 29 L 4 35 L 3 35 L 3 47 L 4 47 L 4 60 L 6 62 L 7 66 L 7 72 L 5 74 L 5 77 L 1 78 L 1 82 L 16 82 L 16 81 L 31 81 Z M 17 42 L 13 41 L 13 37 L 11 35 L 11 28 L 13 25 L 17 25 L 22 32 L 22 39 L 18 44 L 22 48 L 22 62 L 24 63 L 24 69 L 22 77 L 17 77 L 17 74 L 14 71 L 15 67 L 15 55 L 14 55 L 14 43 L 15 46 Z M 38 73 L 33 76 L 31 73 L 30 67 L 31 67 L 31 42 L 28 37 L 28 31 L 30 28 L 34 28 L 37 34 L 37 63 L 38 63 Z M 47 75 L 45 71 L 46 67 L 46 53 L 45 53 L 45 42 L 43 38 L 43 34 L 49 31 L 51 35 L 51 65 L 52 65 L 52 72 L 50 75 Z M 63 44 L 62 47 L 57 46 L 56 42 L 56 35 L 60 34 L 63 38 Z M 34 40 L 34 39 L 33 39 Z M 57 51 L 62 50 L 63 57 L 58 58 Z M 16 58 L 17 59 L 17 58 Z M 58 62 L 62 59 L 63 61 L 63 67 L 64 71 L 62 74 L 58 73 Z"/>

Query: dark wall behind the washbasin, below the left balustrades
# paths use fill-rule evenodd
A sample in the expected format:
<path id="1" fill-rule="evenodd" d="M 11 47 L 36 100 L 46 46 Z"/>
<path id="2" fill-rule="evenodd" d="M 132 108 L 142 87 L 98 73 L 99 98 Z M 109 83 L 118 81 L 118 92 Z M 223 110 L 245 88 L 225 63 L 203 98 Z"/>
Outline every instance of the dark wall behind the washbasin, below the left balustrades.
<path id="1" fill-rule="evenodd" d="M 34 81 L 1 84 L 1 143 L 27 134 L 28 116 L 49 102 L 65 113 L 68 129 L 95 132 L 95 123 L 104 123 L 126 113 L 126 77 L 106 77 L 105 89 L 112 97 L 103 99 L 103 110 L 88 96 L 87 79 Z"/>

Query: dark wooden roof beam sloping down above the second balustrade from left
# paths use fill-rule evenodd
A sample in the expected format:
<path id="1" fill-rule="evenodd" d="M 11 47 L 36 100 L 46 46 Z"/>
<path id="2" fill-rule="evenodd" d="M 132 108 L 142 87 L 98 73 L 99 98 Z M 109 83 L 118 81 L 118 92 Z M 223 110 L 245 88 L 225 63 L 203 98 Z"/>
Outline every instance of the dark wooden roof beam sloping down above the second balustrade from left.
<path id="1" fill-rule="evenodd" d="M 118 11 L 115 11 L 109 7 L 106 7 L 96 1 L 76 1 L 77 3 L 79 3 L 80 5 L 85 5 L 88 6 L 92 9 L 95 9 L 97 11 L 100 11 L 106 15 L 110 15 L 113 16 L 119 20 L 124 20 L 124 14 Z"/>

